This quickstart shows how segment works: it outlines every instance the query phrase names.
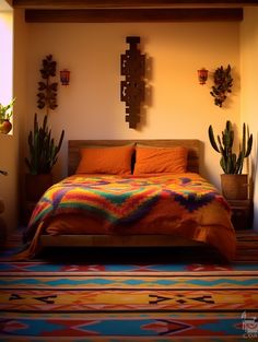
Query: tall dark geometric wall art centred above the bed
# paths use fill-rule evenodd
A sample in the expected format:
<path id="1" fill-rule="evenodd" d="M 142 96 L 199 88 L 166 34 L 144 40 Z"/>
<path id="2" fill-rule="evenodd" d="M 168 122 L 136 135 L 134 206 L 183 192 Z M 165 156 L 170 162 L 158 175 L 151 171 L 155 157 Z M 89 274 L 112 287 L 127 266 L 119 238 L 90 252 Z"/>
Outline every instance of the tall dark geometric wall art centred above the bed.
<path id="1" fill-rule="evenodd" d="M 120 99 L 126 103 L 126 121 L 129 128 L 137 128 L 140 122 L 141 103 L 145 97 L 145 55 L 138 49 L 140 37 L 129 36 L 126 38 L 129 50 L 121 55 L 121 81 Z"/>

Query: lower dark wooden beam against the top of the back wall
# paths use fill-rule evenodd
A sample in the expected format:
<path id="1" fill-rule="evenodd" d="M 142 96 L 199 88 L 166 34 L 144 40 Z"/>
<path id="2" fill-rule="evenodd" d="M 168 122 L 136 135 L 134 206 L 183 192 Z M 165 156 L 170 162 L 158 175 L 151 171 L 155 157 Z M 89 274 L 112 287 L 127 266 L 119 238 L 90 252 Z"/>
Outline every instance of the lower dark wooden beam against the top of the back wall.
<path id="1" fill-rule="evenodd" d="M 243 9 L 26 10 L 28 23 L 242 21 Z"/>

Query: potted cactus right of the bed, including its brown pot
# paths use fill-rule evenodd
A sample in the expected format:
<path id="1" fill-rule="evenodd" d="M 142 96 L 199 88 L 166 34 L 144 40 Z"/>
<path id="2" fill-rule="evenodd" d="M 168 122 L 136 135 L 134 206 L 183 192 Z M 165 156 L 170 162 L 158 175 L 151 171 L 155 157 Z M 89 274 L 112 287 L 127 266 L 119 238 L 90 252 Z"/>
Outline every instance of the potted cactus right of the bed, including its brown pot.
<path id="1" fill-rule="evenodd" d="M 242 174 L 244 160 L 249 156 L 253 148 L 253 134 L 246 125 L 243 125 L 243 135 L 238 152 L 234 152 L 234 138 L 232 122 L 226 121 L 222 137 L 215 141 L 213 128 L 209 127 L 209 139 L 212 148 L 221 154 L 220 165 L 224 174 L 221 175 L 222 193 L 226 199 L 244 200 L 248 198 L 248 175 Z"/>

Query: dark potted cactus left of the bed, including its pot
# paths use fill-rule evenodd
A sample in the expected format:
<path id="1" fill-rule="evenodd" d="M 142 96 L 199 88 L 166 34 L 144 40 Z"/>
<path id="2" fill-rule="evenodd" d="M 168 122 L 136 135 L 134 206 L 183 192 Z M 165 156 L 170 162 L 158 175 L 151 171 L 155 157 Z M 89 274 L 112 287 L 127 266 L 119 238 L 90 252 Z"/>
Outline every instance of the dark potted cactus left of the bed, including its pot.
<path id="1" fill-rule="evenodd" d="M 39 127 L 37 115 L 34 117 L 34 129 L 28 134 L 30 157 L 25 157 L 28 174 L 25 175 L 26 199 L 37 201 L 43 192 L 52 184 L 52 167 L 61 149 L 64 131 L 62 130 L 58 144 L 51 138 L 51 130 L 45 115 Z"/>

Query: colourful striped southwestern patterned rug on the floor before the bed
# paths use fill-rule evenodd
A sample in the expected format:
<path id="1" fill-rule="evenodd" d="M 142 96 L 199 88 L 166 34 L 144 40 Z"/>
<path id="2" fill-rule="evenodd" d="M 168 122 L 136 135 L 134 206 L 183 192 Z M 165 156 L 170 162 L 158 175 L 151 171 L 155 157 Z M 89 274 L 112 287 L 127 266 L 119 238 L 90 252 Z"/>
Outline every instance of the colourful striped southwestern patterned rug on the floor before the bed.
<path id="1" fill-rule="evenodd" d="M 20 240 L 0 256 L 1 342 L 258 341 L 257 233 L 237 233 L 230 264 L 179 249 L 11 261 Z"/>

